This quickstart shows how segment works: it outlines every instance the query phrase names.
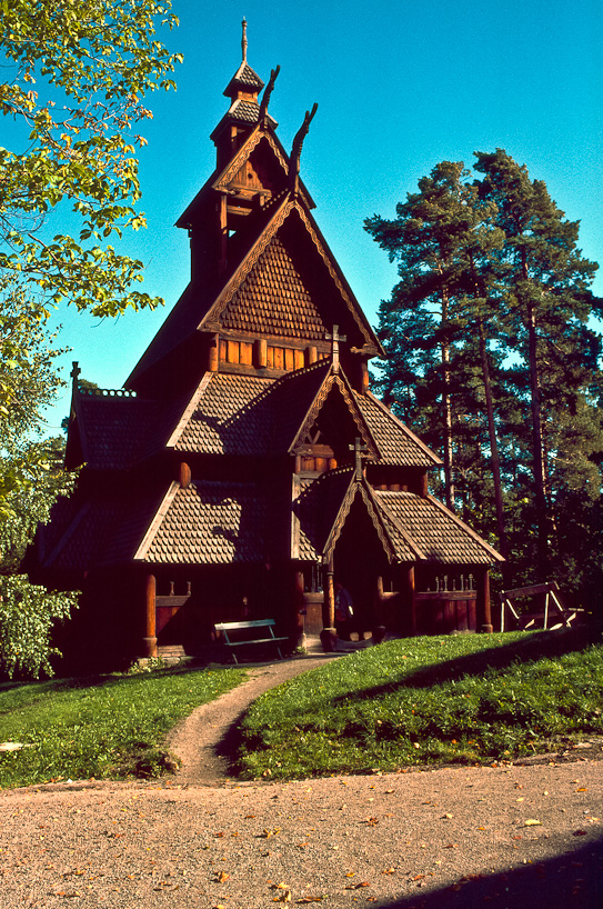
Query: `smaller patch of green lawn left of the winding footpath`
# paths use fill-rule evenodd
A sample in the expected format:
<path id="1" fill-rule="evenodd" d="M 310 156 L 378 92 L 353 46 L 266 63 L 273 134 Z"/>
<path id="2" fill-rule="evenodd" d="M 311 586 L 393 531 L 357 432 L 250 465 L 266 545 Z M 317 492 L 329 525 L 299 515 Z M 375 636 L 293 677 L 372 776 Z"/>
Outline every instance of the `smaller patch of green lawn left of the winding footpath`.
<path id="1" fill-rule="evenodd" d="M 0 685 L 0 742 L 32 746 L 0 751 L 0 788 L 159 776 L 168 730 L 244 678 L 241 669 L 174 668 Z"/>

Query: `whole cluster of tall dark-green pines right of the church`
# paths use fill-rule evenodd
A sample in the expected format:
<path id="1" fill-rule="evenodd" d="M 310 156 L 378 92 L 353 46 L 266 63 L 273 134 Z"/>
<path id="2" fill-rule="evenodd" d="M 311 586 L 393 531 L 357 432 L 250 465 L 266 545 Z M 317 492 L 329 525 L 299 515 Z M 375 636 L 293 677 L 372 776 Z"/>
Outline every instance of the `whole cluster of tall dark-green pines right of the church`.
<path id="1" fill-rule="evenodd" d="M 506 580 L 582 583 L 602 511 L 597 266 L 525 167 L 498 149 L 475 170 L 441 162 L 395 219 L 365 221 L 400 273 L 378 384 L 443 452 L 453 506 L 496 527 Z"/>

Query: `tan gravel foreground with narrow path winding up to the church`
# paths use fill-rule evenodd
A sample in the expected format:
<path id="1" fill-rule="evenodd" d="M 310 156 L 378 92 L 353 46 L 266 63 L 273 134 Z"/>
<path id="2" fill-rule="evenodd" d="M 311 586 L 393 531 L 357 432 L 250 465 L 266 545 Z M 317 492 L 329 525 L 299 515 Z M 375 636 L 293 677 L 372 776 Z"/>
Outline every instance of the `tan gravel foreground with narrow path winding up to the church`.
<path id="1" fill-rule="evenodd" d="M 603 906 L 599 741 L 573 762 L 224 781 L 228 725 L 324 659 L 258 667 L 195 711 L 172 736 L 172 781 L 0 792 L 2 909 Z"/>

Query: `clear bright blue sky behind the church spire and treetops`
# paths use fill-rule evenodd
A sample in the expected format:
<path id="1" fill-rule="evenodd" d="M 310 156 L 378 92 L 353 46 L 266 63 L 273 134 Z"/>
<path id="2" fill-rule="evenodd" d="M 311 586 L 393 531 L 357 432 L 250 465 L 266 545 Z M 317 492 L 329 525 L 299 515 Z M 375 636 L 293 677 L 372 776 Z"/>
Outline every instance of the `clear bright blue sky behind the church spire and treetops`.
<path id="1" fill-rule="evenodd" d="M 180 28 L 164 40 L 184 53 L 178 91 L 151 96 L 142 130 L 141 208 L 149 227 L 120 247 L 141 258 L 144 289 L 165 308 L 117 321 L 60 313 L 60 342 L 82 377 L 119 388 L 189 278 L 185 231 L 174 221 L 214 166 L 209 139 L 227 110 L 222 91 L 241 60 L 268 81 L 287 149 L 314 101 L 301 173 L 315 218 L 369 319 L 396 280 L 364 232 L 365 217 L 395 203 L 442 160 L 471 166 L 473 151 L 504 148 L 546 182 L 580 247 L 603 266 L 603 7 L 600 0 L 174 0 Z M 57 224 L 60 229 L 61 226 Z M 603 296 L 603 274 L 595 291 Z M 56 432 L 69 396 L 48 414 Z"/>

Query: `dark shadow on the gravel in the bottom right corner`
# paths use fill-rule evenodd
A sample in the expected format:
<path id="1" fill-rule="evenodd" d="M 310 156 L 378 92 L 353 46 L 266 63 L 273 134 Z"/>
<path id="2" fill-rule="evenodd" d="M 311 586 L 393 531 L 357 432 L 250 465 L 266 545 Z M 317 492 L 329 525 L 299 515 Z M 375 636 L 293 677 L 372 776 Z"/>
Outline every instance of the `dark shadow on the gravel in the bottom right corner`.
<path id="1" fill-rule="evenodd" d="M 603 840 L 504 873 L 373 903 L 380 909 L 595 909 L 603 906 Z"/>

